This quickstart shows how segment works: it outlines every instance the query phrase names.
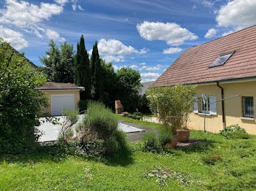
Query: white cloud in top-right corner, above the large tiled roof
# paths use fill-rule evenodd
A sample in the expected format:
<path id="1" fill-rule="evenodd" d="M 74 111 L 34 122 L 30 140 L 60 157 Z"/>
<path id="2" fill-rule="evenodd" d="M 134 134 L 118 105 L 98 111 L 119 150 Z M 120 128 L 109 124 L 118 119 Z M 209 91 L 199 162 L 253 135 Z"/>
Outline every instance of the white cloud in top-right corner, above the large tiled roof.
<path id="1" fill-rule="evenodd" d="M 256 23 L 255 0 L 233 0 L 219 9 L 217 15 L 218 26 L 234 26 L 245 28 Z"/>

